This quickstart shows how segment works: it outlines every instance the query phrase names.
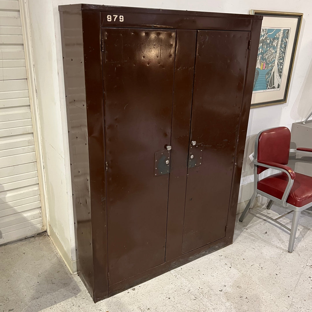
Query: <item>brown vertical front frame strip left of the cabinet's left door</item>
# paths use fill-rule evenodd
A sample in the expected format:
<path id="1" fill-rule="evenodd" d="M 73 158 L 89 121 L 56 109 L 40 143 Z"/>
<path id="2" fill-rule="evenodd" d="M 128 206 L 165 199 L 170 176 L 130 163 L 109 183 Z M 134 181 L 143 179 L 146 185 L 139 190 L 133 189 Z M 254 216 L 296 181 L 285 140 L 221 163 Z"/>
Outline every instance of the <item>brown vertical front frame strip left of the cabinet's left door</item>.
<path id="1" fill-rule="evenodd" d="M 105 125 L 99 11 L 82 11 L 89 134 L 94 301 L 108 297 Z"/>

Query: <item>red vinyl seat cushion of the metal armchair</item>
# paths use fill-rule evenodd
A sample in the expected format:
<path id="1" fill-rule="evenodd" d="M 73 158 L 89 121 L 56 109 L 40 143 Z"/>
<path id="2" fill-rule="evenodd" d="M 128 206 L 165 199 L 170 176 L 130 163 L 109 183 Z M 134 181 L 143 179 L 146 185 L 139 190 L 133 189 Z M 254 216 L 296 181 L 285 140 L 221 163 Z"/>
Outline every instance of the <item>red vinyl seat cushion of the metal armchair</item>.
<path id="1" fill-rule="evenodd" d="M 282 199 L 288 183 L 285 172 L 273 174 L 258 182 L 258 190 L 276 198 Z M 312 202 L 312 177 L 297 173 L 290 190 L 287 203 L 295 207 L 303 207 Z"/>

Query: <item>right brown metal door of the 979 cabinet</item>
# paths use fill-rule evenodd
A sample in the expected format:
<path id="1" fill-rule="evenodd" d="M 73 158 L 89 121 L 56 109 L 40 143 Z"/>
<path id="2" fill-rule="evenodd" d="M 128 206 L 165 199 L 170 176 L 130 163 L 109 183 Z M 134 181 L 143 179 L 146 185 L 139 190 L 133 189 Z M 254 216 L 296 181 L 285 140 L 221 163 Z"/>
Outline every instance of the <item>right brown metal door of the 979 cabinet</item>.
<path id="1" fill-rule="evenodd" d="M 182 253 L 225 237 L 249 39 L 197 32 Z"/>

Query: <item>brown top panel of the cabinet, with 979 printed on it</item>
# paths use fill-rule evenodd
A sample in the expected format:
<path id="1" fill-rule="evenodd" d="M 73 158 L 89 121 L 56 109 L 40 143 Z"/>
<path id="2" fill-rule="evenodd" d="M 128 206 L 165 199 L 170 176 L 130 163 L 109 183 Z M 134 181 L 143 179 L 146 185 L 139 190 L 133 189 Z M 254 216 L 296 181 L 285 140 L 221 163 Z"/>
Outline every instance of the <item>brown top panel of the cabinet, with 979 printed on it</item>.
<path id="1" fill-rule="evenodd" d="M 59 11 L 100 12 L 101 27 L 250 31 L 261 15 L 115 7 L 92 4 L 59 6 Z"/>

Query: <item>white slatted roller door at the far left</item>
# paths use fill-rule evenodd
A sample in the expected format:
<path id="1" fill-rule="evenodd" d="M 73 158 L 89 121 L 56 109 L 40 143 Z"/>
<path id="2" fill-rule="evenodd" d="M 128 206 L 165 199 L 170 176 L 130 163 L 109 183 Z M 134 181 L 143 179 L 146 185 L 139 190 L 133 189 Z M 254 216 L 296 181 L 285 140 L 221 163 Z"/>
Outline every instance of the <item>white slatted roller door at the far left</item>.
<path id="1" fill-rule="evenodd" d="M 0 245 L 42 232 L 18 0 L 0 0 Z"/>

